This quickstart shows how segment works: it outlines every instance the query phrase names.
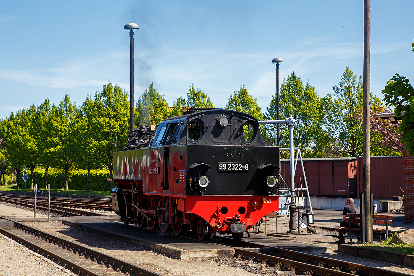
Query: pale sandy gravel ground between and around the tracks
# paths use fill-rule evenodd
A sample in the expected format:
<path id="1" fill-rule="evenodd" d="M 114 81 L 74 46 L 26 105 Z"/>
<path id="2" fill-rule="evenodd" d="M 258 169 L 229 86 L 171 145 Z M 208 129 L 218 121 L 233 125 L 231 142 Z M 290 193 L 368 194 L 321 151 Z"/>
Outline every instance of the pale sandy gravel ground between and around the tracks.
<path id="1" fill-rule="evenodd" d="M 99 211 L 102 214 L 112 214 L 113 212 Z M 7 203 L 0 203 L 0 216 L 5 216 L 8 218 L 33 218 L 33 211 L 24 207 L 12 206 Z M 43 212 L 36 214 L 36 217 L 41 219 L 47 217 Z M 278 218 L 279 220 L 279 218 Z M 81 245 L 91 247 L 98 251 L 101 251 L 105 254 L 112 255 L 119 259 L 130 262 L 137 266 L 144 267 L 150 271 L 155 271 L 161 275 L 203 275 L 203 276 L 235 276 L 235 275 L 292 275 L 291 271 L 277 271 L 277 268 L 274 266 L 266 266 L 267 264 L 249 262 L 248 260 L 243 260 L 236 257 L 226 257 L 226 258 L 211 258 L 211 259 L 188 259 L 188 260 L 178 260 L 171 257 L 153 252 L 149 249 L 143 247 L 137 247 L 135 245 L 130 245 L 125 242 L 120 242 L 118 240 L 111 240 L 106 237 L 97 237 L 95 234 L 92 234 L 85 230 L 79 230 L 77 228 L 72 228 L 67 225 L 63 225 L 60 220 L 53 220 L 49 223 L 43 221 L 35 222 L 25 222 L 25 224 L 38 228 L 40 230 L 45 230 L 50 232 L 53 235 L 63 237 L 67 240 L 77 242 Z M 273 227 L 273 228 L 272 228 Z M 286 232 L 287 225 L 284 226 L 283 223 L 278 221 L 278 232 Z M 286 228 L 286 230 L 285 230 Z M 260 229 L 264 230 L 264 228 Z M 268 225 L 268 232 L 274 231 L 274 225 Z M 327 233 L 327 230 L 317 229 L 318 233 Z M 265 235 L 264 233 L 259 233 Z M 391 264 L 384 262 L 377 262 L 363 258 L 351 257 L 342 253 L 337 252 L 337 245 L 335 241 L 337 238 L 330 236 L 321 236 L 321 235 L 308 235 L 308 236 L 297 236 L 297 237 L 287 237 L 289 239 L 295 239 L 300 242 L 314 243 L 322 246 L 330 246 L 332 248 L 332 254 L 323 254 L 324 257 L 330 257 L 334 259 L 341 259 L 345 261 L 352 261 L 358 264 L 364 264 L 367 266 L 375 266 L 383 269 L 389 269 L 393 271 L 399 271 L 402 273 L 414 275 L 414 270 L 411 268 L 406 268 L 403 266 L 392 266 Z M 7 243 L 12 243 L 15 245 L 17 252 L 12 252 L 12 250 L 7 249 Z M 5 244 L 5 245 L 3 245 Z M 10 247 L 11 248 L 11 247 Z M 14 247 L 13 247 L 14 248 Z M 39 266 L 41 263 L 45 267 L 42 270 L 42 274 L 39 275 L 67 275 L 67 272 L 60 270 L 53 266 L 53 264 L 48 264 L 44 259 L 35 257 L 33 254 L 29 254 L 27 249 L 22 248 L 16 242 L 7 240 L 5 237 L 0 238 L 0 250 L 2 254 L 0 255 L 0 261 L 2 264 L 2 269 L 6 269 L 7 266 L 13 267 L 13 269 L 19 269 L 19 271 L 31 271 L 29 268 L 32 268 L 34 264 Z M 19 251 L 21 252 L 19 254 Z M 12 252 L 9 254 L 9 252 Z M 12 258 L 12 259 L 9 259 Z M 19 260 L 19 261 L 17 261 Z M 36 260 L 36 261 L 34 261 Z M 43 261 L 43 263 L 41 261 Z M 14 262 L 13 262 L 14 261 Z M 9 264 L 10 263 L 10 264 Z M 272 268 L 273 267 L 273 268 Z M 12 269 L 9 272 L 0 271 L 0 276 L 2 275 L 38 275 L 38 274 L 16 274 L 11 273 Z M 45 274 L 47 271 L 50 274 Z M 71 274 L 73 275 L 73 274 Z M 298 275 L 298 274 L 296 274 Z"/>

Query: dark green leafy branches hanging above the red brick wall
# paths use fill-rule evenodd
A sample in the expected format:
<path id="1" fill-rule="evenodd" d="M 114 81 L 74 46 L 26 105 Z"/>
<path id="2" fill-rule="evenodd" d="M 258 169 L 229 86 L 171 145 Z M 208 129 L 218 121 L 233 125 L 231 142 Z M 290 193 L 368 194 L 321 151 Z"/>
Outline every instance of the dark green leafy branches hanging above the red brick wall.
<path id="1" fill-rule="evenodd" d="M 381 93 L 385 104 L 395 107 L 395 115 L 401 116 L 404 111 L 398 133 L 401 133 L 402 142 L 407 144 L 407 154 L 414 155 L 414 88 L 407 77 L 395 74 Z"/>

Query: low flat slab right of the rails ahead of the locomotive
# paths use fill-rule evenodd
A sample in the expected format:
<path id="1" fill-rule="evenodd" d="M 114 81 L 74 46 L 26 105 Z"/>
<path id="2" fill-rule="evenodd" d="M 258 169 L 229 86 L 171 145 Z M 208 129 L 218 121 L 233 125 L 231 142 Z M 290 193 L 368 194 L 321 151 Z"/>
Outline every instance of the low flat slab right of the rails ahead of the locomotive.
<path id="1" fill-rule="evenodd" d="M 263 236 L 253 233 L 250 233 L 250 238 L 246 238 L 245 236 L 246 234 L 244 235 L 241 242 L 245 242 L 245 245 L 249 247 L 252 247 L 251 243 L 254 243 L 255 247 L 257 247 L 257 245 L 262 245 L 264 247 L 280 247 L 283 249 L 289 249 L 308 254 L 331 253 L 331 247 L 312 245 L 304 242 L 296 242 L 295 240 L 289 240 L 286 238 Z"/>

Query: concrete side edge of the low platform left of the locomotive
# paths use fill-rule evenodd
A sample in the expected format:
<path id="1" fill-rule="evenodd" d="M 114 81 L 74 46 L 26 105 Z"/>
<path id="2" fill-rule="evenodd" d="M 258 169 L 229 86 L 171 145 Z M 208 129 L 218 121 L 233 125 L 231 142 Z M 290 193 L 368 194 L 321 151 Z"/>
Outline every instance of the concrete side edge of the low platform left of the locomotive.
<path id="1" fill-rule="evenodd" d="M 101 236 L 109 237 L 111 239 L 120 240 L 123 242 L 129 242 L 133 245 L 140 247 L 146 247 L 155 251 L 158 251 L 162 254 L 168 254 L 170 256 L 176 257 L 178 259 L 200 259 L 200 258 L 211 258 L 219 256 L 233 256 L 234 249 L 229 247 L 228 249 L 194 249 L 194 250 L 185 250 L 170 245 L 165 245 L 162 243 L 155 243 L 149 240 L 140 239 L 137 237 L 132 237 L 129 235 L 119 235 L 116 232 L 112 231 L 102 231 L 90 226 L 86 226 L 83 223 L 73 222 L 70 220 L 62 220 L 62 223 L 72 227 L 76 227 L 82 230 L 88 230 L 94 234 Z"/>

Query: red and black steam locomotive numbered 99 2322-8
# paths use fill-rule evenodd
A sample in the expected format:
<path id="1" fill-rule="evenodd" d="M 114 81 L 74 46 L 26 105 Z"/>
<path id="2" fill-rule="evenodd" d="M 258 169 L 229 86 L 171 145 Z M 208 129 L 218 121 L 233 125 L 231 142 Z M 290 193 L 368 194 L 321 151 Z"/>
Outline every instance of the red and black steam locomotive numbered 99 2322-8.
<path id="1" fill-rule="evenodd" d="M 189 109 L 141 125 L 114 153 L 111 191 L 123 223 L 199 240 L 234 239 L 278 211 L 279 148 L 265 146 L 255 117 Z"/>

